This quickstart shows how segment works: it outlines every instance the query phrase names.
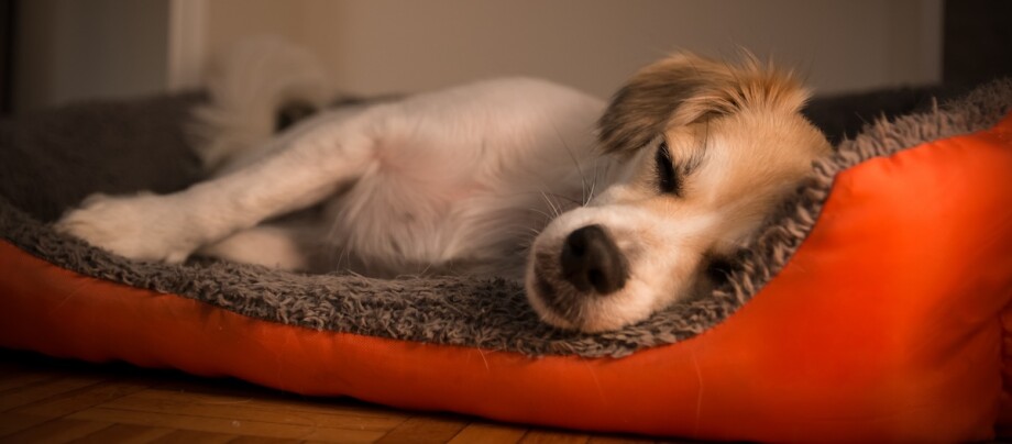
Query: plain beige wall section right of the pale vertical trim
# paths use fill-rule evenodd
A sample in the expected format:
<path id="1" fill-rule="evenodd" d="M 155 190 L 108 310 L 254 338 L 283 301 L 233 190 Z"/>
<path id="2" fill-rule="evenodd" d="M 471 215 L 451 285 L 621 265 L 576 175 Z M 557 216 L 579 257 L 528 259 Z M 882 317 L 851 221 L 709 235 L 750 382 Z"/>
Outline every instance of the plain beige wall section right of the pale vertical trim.
<path id="1" fill-rule="evenodd" d="M 738 46 L 824 92 L 941 77 L 941 1 L 213 0 L 211 52 L 267 31 L 312 47 L 342 88 L 416 91 L 529 75 L 600 96 L 673 49 Z M 238 13 L 242 11 L 242 13 Z"/>

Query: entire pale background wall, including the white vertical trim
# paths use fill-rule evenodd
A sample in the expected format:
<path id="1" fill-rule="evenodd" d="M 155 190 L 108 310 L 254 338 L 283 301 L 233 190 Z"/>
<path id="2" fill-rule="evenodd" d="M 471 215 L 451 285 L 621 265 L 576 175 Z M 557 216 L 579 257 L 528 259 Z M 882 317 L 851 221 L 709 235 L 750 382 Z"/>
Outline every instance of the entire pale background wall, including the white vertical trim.
<path id="1" fill-rule="evenodd" d="M 671 51 L 730 57 L 739 46 L 796 67 L 823 93 L 941 79 L 942 0 L 24 3 L 30 15 L 45 4 L 61 9 L 50 19 L 55 29 L 30 31 L 50 40 L 46 63 L 33 65 L 34 76 L 44 77 L 33 88 L 43 92 L 24 93 L 31 103 L 193 87 L 209 56 L 258 34 L 309 46 L 343 90 L 362 95 L 526 75 L 605 97 Z M 123 35 L 128 42 L 117 38 Z M 150 51 L 138 52 L 145 46 Z"/>

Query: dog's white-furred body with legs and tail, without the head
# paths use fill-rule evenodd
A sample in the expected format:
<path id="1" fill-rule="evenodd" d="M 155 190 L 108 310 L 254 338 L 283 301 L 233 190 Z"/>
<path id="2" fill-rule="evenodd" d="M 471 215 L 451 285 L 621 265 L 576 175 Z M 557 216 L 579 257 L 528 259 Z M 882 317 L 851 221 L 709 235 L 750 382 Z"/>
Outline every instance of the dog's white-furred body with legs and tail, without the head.
<path id="1" fill-rule="evenodd" d="M 94 197 L 59 229 L 145 260 L 200 251 L 374 276 L 519 278 L 526 246 L 554 213 L 583 203 L 585 182 L 603 167 L 592 130 L 604 103 L 526 78 L 328 111 L 265 137 L 274 123 L 265 116 L 282 98 L 320 102 L 329 90 L 319 76 L 290 74 L 318 71 L 299 65 L 309 60 L 276 42 L 228 57 L 223 80 L 210 84 L 212 104 L 197 114 L 209 137 L 205 157 L 221 164 L 216 176 L 168 196 Z M 244 234 L 317 204 L 316 223 Z M 322 247 L 304 254 L 319 257 L 292 257 L 307 233 Z M 263 242 L 240 248 L 240 237 Z"/>

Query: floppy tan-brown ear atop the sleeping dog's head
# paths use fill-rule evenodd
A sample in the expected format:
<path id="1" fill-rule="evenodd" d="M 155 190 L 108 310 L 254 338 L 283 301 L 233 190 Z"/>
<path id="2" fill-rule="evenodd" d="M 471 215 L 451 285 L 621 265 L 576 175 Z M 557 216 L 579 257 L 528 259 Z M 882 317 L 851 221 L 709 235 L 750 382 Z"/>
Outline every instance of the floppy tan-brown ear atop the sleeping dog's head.
<path id="1" fill-rule="evenodd" d="M 790 73 L 749 53 L 738 65 L 681 53 L 641 69 L 615 93 L 597 122 L 597 137 L 606 153 L 631 153 L 669 127 L 751 107 L 795 112 L 806 99 Z"/>

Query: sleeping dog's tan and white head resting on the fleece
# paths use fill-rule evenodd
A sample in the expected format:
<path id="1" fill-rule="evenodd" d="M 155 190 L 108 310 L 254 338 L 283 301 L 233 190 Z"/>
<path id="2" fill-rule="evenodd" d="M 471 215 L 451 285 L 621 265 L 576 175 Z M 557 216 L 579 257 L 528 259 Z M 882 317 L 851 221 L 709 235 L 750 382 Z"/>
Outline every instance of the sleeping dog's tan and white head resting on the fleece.
<path id="1" fill-rule="evenodd" d="M 613 184 L 535 241 L 528 299 L 553 325 L 587 332 L 646 319 L 710 287 L 714 258 L 748 242 L 829 153 L 800 113 L 789 73 L 679 54 L 623 87 L 598 122 Z"/>

